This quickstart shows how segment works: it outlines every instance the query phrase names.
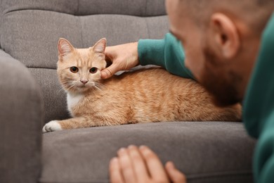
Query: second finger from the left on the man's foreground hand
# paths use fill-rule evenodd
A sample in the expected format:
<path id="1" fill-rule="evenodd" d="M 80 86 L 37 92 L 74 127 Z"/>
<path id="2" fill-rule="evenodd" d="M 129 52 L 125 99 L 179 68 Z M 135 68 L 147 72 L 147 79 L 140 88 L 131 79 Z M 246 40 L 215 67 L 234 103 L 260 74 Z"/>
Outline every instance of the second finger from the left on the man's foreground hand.
<path id="1" fill-rule="evenodd" d="M 119 165 L 121 166 L 124 182 L 136 182 L 136 175 L 133 169 L 131 158 L 126 149 L 122 148 L 118 151 Z"/>

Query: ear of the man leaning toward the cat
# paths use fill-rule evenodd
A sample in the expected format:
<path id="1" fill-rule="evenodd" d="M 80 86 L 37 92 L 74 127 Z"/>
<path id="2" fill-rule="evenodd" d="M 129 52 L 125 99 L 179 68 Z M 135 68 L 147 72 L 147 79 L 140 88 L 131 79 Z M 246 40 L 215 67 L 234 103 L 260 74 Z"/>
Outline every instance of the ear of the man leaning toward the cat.
<path id="1" fill-rule="evenodd" d="M 214 13 L 210 26 L 214 42 L 223 58 L 233 58 L 240 49 L 240 37 L 235 23 L 223 13 Z"/>

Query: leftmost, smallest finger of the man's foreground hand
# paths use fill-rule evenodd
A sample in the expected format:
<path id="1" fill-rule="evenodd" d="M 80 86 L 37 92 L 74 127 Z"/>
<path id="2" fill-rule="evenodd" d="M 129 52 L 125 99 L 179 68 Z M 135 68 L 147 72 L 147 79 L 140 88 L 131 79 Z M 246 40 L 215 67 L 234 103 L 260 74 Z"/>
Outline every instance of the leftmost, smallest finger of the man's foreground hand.
<path id="1" fill-rule="evenodd" d="M 110 160 L 110 182 L 112 183 L 123 183 L 124 179 L 122 177 L 121 168 L 119 166 L 118 158 L 112 158 Z"/>

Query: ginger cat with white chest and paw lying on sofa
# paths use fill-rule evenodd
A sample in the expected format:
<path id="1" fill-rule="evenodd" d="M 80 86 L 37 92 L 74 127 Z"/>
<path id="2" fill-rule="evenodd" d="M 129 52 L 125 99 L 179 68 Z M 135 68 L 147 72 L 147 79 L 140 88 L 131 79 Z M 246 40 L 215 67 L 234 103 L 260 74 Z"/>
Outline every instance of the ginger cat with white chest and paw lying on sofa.
<path id="1" fill-rule="evenodd" d="M 240 121 L 240 104 L 220 108 L 197 82 L 163 68 L 125 72 L 101 80 L 106 39 L 89 49 L 58 42 L 58 77 L 72 118 L 53 120 L 43 132 L 137 122 Z"/>

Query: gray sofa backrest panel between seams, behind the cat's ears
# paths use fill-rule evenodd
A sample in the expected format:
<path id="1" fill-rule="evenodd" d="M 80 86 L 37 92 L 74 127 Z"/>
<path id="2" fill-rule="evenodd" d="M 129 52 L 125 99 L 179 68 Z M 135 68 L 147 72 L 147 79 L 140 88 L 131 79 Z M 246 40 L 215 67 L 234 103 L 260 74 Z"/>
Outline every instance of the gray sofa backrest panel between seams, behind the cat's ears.
<path id="1" fill-rule="evenodd" d="M 77 17 L 53 11 L 25 10 L 7 13 L 3 21 L 2 26 L 5 29 L 1 37 L 1 46 L 30 68 L 56 68 L 57 42 L 60 37 L 68 39 L 75 47 L 86 48 L 93 46 L 103 37 L 107 38 L 107 43 L 111 46 L 136 42 L 140 37 L 159 39 L 168 31 L 167 16 Z M 154 33 L 155 30 L 157 34 Z"/>

